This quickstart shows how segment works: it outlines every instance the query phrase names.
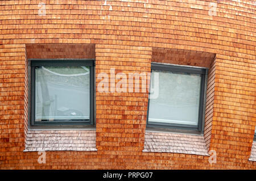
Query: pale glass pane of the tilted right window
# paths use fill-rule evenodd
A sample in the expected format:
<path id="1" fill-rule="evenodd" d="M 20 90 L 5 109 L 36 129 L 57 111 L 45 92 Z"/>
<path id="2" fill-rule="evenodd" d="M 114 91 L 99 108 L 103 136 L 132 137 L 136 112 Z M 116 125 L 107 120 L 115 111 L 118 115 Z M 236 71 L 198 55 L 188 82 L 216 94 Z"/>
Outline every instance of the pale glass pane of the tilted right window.
<path id="1" fill-rule="evenodd" d="M 201 75 L 152 70 L 151 84 L 154 73 L 159 73 L 159 95 L 150 99 L 148 123 L 197 125 Z"/>

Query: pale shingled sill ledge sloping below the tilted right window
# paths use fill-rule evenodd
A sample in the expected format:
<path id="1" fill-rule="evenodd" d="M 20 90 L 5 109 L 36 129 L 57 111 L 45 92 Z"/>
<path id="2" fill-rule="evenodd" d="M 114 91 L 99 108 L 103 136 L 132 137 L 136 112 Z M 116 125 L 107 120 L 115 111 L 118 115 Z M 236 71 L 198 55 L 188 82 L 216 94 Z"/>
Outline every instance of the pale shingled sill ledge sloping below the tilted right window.
<path id="1" fill-rule="evenodd" d="M 145 133 L 143 152 L 184 153 L 209 156 L 203 135 L 184 133 Z"/>

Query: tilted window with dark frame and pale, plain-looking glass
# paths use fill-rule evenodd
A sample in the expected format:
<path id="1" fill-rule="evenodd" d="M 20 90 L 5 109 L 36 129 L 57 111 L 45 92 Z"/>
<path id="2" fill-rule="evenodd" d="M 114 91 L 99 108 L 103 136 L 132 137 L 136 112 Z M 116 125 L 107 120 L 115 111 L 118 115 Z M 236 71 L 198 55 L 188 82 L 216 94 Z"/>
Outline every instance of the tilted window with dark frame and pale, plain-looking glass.
<path id="1" fill-rule="evenodd" d="M 206 74 L 205 68 L 152 63 L 151 89 L 158 86 L 158 96 L 148 100 L 147 127 L 202 132 Z"/>

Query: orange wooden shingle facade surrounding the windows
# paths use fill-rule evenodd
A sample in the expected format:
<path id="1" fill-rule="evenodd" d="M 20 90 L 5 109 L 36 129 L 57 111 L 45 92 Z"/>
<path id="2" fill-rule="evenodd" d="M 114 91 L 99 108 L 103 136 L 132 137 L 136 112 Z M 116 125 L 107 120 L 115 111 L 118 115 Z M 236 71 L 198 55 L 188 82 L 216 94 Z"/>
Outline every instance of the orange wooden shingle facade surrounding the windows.
<path id="1" fill-rule="evenodd" d="M 256 169 L 255 46 L 254 0 L 0 1 L 0 169 Z M 97 151 L 46 151 L 39 163 L 24 151 L 30 58 L 93 58 L 96 87 L 100 73 L 150 73 L 151 62 L 208 68 L 203 136 L 216 163 L 143 151 L 148 91 L 97 89 Z"/>

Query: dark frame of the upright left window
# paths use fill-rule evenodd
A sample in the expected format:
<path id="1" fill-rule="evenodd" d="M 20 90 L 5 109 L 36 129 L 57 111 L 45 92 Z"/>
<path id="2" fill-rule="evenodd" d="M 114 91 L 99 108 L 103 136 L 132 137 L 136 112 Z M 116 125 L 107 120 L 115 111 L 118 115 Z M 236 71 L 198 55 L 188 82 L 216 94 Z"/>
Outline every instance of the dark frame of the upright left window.
<path id="1" fill-rule="evenodd" d="M 48 125 L 94 125 L 94 82 L 95 82 L 95 59 L 30 59 L 31 62 L 31 108 L 30 108 L 30 125 L 48 126 Z M 35 121 L 35 69 L 36 66 L 89 66 L 90 67 L 90 116 L 86 120 L 55 120 L 55 121 Z"/>

